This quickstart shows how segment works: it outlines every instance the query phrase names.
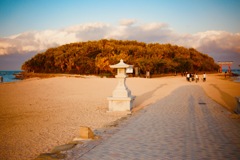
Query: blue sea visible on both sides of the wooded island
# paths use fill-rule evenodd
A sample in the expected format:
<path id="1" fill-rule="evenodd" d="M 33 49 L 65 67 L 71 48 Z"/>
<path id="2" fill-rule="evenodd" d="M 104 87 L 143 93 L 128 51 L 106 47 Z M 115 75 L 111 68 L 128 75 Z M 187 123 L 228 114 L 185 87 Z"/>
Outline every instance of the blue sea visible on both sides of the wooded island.
<path id="1" fill-rule="evenodd" d="M 223 73 L 227 71 L 223 69 Z M 21 73 L 21 70 L 16 71 L 0 71 L 0 76 L 3 77 L 3 83 L 5 82 L 15 82 L 20 81 L 20 79 L 17 79 L 15 77 L 15 74 Z M 232 80 L 235 82 L 240 82 L 240 69 L 232 69 L 232 73 L 237 74 L 238 76 L 232 77 Z M 1 82 L 0 82 L 1 83 Z"/>

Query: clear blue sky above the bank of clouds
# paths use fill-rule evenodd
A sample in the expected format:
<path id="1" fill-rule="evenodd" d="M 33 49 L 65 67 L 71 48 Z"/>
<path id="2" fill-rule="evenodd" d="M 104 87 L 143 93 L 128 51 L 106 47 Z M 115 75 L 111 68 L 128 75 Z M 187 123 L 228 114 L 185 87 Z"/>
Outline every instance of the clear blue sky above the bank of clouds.
<path id="1" fill-rule="evenodd" d="M 240 32 L 238 0 L 0 0 L 0 36 L 119 20 L 168 23 L 180 33 Z"/>

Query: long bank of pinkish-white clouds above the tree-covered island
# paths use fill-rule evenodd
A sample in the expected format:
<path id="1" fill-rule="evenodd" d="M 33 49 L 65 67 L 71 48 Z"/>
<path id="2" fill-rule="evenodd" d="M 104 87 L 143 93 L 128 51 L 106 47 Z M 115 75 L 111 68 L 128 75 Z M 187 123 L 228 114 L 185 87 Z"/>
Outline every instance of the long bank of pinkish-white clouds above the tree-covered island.
<path id="1" fill-rule="evenodd" d="M 175 33 L 164 23 L 137 24 L 134 19 L 125 19 L 121 20 L 118 26 L 87 23 L 59 30 L 30 31 L 0 38 L 0 55 L 40 52 L 66 43 L 102 38 L 172 43 L 193 47 L 204 53 L 240 54 L 240 33 L 206 31 L 184 35 Z"/>

